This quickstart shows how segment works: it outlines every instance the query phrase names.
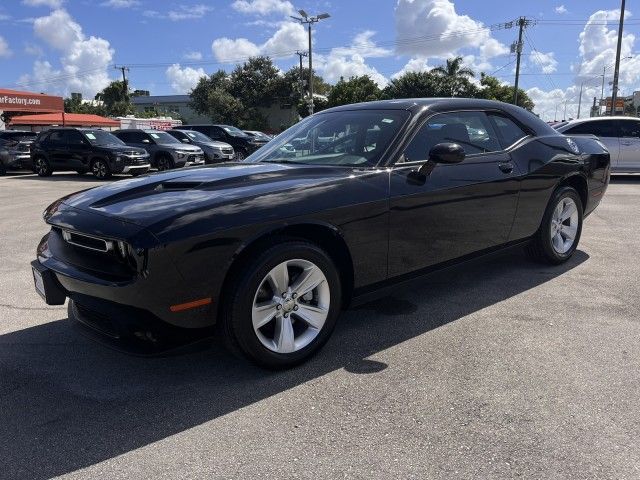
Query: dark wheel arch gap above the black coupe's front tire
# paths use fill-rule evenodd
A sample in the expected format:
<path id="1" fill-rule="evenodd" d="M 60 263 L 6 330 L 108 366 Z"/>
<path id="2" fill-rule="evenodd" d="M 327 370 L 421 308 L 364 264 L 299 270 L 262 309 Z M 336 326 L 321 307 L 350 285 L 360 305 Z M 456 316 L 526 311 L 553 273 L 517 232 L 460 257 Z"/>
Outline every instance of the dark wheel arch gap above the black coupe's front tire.
<path id="1" fill-rule="evenodd" d="M 263 231 L 244 242 L 234 253 L 222 282 L 221 292 L 229 288 L 234 275 L 250 259 L 270 245 L 282 240 L 305 240 L 323 249 L 333 260 L 342 286 L 342 305 L 351 301 L 354 288 L 353 260 L 347 242 L 339 229 L 322 222 L 287 224 Z"/>

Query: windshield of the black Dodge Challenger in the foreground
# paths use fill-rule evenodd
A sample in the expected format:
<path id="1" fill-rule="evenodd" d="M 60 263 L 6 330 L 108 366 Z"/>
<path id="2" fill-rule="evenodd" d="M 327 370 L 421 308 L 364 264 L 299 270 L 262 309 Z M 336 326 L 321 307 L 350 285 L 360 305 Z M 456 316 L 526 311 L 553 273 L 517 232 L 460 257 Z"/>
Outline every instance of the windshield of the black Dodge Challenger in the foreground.
<path id="1" fill-rule="evenodd" d="M 408 117 L 404 110 L 320 113 L 281 133 L 247 161 L 376 165 Z"/>

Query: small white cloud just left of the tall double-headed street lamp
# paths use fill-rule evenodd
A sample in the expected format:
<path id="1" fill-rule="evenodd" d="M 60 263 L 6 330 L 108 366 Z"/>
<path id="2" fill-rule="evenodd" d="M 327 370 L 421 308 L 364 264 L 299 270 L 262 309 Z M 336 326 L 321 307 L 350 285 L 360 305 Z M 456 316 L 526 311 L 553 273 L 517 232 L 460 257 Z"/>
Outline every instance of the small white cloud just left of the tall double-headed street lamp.
<path id="1" fill-rule="evenodd" d="M 217 38 L 211 44 L 215 58 L 223 63 L 235 63 L 256 55 L 291 56 L 296 49 L 304 49 L 307 37 L 302 25 L 282 22 L 276 32 L 262 45 L 246 38 Z"/>

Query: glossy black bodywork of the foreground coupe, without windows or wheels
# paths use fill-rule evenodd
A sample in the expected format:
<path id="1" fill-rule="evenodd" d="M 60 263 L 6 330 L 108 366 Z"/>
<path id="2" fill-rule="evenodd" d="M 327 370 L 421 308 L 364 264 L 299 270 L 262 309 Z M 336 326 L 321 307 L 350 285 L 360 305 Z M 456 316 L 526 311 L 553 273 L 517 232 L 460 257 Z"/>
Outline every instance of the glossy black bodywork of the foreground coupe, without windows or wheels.
<path id="1" fill-rule="evenodd" d="M 114 308 L 142 309 L 158 323 L 202 328 L 216 321 L 233 263 L 274 233 L 330 243 L 342 255 L 344 281 L 357 297 L 526 241 L 559 185 L 575 186 L 587 214 L 608 185 L 609 154 L 599 142 L 567 139 L 511 105 L 418 99 L 326 112 L 357 109 L 409 112 L 376 165 L 249 159 L 79 192 L 47 209 L 53 228 L 38 248 L 38 260 L 56 273 L 71 298 L 88 296 Z M 425 120 L 452 110 L 498 111 L 521 123 L 527 135 L 498 152 L 416 175 L 419 162 L 403 158 L 408 142 Z M 65 244 L 63 230 L 127 242 L 130 258 L 126 266 L 107 267 L 99 254 Z M 171 310 L 203 297 L 211 303 Z"/>

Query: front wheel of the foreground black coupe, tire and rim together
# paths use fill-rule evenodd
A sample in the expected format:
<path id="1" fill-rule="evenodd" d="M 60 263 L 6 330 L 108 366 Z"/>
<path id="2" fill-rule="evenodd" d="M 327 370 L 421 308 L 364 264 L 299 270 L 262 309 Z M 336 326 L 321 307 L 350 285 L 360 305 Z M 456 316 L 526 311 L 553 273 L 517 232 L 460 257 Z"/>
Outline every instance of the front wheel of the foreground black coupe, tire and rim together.
<path id="1" fill-rule="evenodd" d="M 232 352 L 281 369 L 307 360 L 327 342 L 340 312 L 341 285 L 322 249 L 284 241 L 233 275 L 219 324 Z"/>

